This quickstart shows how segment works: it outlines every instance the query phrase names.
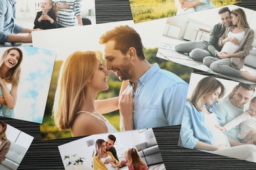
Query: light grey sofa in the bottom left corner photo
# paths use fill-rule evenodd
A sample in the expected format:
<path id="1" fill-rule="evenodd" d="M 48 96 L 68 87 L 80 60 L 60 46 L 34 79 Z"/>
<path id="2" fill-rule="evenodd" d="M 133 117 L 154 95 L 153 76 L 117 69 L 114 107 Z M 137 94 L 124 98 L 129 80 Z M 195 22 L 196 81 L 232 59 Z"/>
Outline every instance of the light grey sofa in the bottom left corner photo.
<path id="1" fill-rule="evenodd" d="M 24 158 L 27 148 L 11 142 L 9 151 L 7 152 L 6 159 L 0 164 L 1 170 L 16 170 L 20 162 Z"/>

